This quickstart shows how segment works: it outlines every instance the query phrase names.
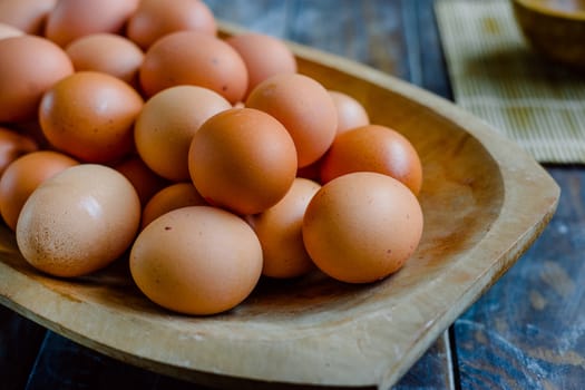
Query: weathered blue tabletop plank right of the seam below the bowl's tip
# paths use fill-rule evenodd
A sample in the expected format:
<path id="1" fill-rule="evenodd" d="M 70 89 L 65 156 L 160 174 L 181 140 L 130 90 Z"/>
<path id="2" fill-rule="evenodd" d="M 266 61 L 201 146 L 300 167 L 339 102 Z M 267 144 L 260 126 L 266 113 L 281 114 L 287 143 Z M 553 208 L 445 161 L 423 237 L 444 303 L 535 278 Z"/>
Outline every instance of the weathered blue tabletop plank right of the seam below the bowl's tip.
<path id="1" fill-rule="evenodd" d="M 464 389 L 585 386 L 585 173 L 548 167 L 562 187 L 555 217 L 456 323 Z"/>

